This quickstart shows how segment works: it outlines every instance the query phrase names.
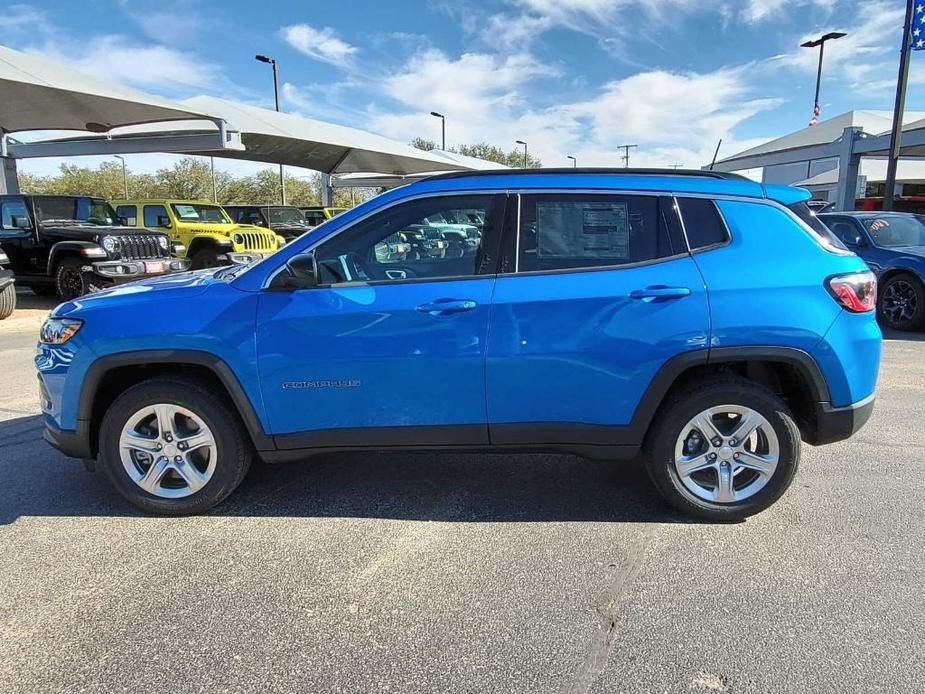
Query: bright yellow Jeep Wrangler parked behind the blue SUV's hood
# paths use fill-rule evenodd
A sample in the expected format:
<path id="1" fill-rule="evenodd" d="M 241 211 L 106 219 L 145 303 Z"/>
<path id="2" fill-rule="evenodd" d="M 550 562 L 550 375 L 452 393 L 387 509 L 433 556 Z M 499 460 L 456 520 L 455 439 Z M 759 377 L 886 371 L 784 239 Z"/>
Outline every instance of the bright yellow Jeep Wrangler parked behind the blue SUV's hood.
<path id="1" fill-rule="evenodd" d="M 113 200 L 128 226 L 164 229 L 186 246 L 193 269 L 263 258 L 286 243 L 269 229 L 235 224 L 221 205 L 200 200 Z"/>

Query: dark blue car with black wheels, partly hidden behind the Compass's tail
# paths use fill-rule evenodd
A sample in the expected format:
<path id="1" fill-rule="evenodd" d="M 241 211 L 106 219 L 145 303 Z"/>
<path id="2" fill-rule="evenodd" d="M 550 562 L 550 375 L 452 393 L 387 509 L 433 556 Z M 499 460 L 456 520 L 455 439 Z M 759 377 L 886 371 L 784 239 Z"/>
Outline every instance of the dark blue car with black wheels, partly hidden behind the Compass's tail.
<path id="1" fill-rule="evenodd" d="M 877 275 L 880 321 L 895 330 L 925 325 L 925 216 L 832 212 L 819 219 Z"/>

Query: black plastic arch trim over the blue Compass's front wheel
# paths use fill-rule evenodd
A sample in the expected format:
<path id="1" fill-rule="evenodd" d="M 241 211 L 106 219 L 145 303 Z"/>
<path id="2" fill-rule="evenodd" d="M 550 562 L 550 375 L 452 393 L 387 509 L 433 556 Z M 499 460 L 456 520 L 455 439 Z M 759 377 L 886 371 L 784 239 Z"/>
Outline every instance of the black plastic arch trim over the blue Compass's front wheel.
<path id="1" fill-rule="evenodd" d="M 237 376 L 220 357 L 209 352 L 165 349 L 111 354 L 90 365 L 80 390 L 77 420 L 78 431 L 86 432 L 91 456 L 95 457 L 99 451 L 100 424 L 115 397 L 142 381 L 177 375 L 204 380 L 216 387 L 230 399 L 254 448 L 275 449 Z"/>

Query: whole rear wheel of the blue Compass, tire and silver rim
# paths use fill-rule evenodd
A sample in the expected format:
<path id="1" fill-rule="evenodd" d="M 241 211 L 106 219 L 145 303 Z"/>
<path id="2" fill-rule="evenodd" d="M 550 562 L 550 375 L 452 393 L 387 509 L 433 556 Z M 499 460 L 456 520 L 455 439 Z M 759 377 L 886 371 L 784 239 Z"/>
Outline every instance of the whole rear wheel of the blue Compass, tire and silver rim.
<path id="1" fill-rule="evenodd" d="M 771 391 L 717 378 L 672 397 L 652 425 L 647 453 L 649 476 L 677 509 L 705 520 L 741 520 L 790 486 L 800 433 Z"/>

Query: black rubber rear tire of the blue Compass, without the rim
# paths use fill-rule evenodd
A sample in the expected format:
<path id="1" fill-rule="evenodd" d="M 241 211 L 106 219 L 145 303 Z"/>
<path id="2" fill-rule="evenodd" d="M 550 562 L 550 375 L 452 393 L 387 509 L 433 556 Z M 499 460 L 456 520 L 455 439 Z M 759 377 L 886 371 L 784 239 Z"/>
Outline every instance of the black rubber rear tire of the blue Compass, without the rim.
<path id="1" fill-rule="evenodd" d="M 765 486 L 741 501 L 705 500 L 684 486 L 675 467 L 675 443 L 682 428 L 709 407 L 740 405 L 755 410 L 774 429 L 777 467 Z M 737 521 L 771 506 L 787 491 L 800 460 L 800 432 L 787 405 L 767 388 L 743 378 L 718 376 L 670 396 L 659 410 L 645 447 L 645 463 L 658 491 L 675 508 L 709 521 Z"/>

